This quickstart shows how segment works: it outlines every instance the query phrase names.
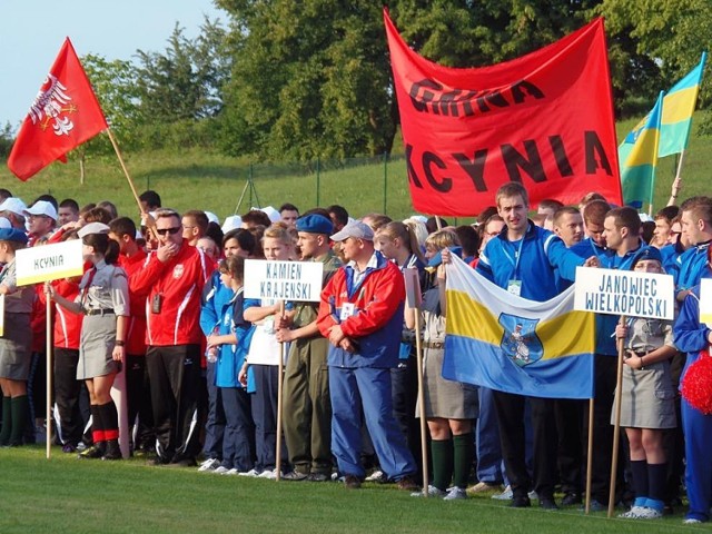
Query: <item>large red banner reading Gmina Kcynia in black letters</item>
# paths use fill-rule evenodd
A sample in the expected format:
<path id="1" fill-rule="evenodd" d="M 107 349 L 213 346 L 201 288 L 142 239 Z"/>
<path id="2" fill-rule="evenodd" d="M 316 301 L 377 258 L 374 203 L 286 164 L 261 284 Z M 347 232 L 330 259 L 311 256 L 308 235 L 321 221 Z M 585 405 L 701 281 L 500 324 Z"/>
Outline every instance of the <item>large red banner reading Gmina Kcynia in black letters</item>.
<path id="1" fill-rule="evenodd" d="M 416 210 L 472 216 L 507 181 L 532 207 L 621 204 L 603 20 L 512 61 L 453 69 L 411 50 L 384 10 Z"/>

